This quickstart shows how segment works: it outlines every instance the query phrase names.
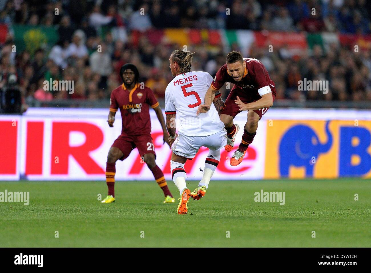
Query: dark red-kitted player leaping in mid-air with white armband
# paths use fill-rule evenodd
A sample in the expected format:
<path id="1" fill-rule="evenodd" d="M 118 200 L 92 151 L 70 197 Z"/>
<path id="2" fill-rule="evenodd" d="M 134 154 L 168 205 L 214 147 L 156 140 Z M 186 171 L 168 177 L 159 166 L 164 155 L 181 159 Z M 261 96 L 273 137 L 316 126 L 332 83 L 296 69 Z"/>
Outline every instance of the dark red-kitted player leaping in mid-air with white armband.
<path id="1" fill-rule="evenodd" d="M 234 84 L 220 113 L 220 120 L 227 130 L 227 152 L 233 149 L 234 139 L 239 131 L 239 126 L 233 124 L 233 118 L 241 111 L 247 111 L 241 144 L 230 159 L 230 165 L 237 166 L 254 140 L 259 120 L 273 105 L 276 88 L 275 82 L 270 79 L 267 69 L 259 60 L 243 58 L 240 52 L 232 51 L 227 55 L 226 64 L 216 72 L 214 81 L 206 92 L 205 104 L 199 106 L 197 114 L 209 111 L 213 93 L 225 82 Z"/>

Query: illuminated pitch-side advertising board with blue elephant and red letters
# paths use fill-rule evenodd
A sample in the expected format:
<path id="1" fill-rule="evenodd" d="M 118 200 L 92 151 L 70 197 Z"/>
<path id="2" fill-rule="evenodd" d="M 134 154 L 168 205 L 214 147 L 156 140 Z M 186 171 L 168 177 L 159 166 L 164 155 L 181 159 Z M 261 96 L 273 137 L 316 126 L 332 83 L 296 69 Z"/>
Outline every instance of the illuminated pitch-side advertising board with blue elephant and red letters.
<path id="1" fill-rule="evenodd" d="M 121 133 L 120 115 L 113 128 L 106 120 L 106 109 L 83 108 L 30 108 L 23 116 L 0 116 L 0 179 L 105 181 L 107 153 Z M 234 122 L 243 128 L 246 112 Z M 157 164 L 171 180 L 171 151 L 162 143 L 161 126 L 152 110 L 151 123 Z M 236 167 L 229 164 L 234 150 L 221 151 L 213 179 L 370 178 L 371 111 L 270 109 Z M 202 177 L 206 156 L 207 148 L 201 148 L 188 160 L 188 179 Z M 134 149 L 116 163 L 116 179 L 153 177 Z"/>

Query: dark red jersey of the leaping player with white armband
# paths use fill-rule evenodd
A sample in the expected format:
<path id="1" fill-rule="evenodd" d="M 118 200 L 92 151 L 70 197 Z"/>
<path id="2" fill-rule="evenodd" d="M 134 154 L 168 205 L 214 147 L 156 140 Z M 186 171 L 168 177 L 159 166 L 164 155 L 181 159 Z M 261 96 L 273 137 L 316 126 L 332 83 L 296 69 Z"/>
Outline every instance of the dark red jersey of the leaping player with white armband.
<path id="1" fill-rule="evenodd" d="M 269 74 L 265 66 L 258 60 L 253 58 L 243 58 L 246 62 L 246 69 L 241 81 L 234 81 L 233 77 L 229 75 L 227 64 L 221 66 L 216 72 L 214 81 L 211 86 L 219 90 L 224 83 L 230 82 L 236 87 L 241 88 L 246 92 L 246 96 L 255 98 L 260 97 L 258 90 L 260 88 L 269 86 L 272 94 L 276 95 L 275 82 L 269 78 Z"/>

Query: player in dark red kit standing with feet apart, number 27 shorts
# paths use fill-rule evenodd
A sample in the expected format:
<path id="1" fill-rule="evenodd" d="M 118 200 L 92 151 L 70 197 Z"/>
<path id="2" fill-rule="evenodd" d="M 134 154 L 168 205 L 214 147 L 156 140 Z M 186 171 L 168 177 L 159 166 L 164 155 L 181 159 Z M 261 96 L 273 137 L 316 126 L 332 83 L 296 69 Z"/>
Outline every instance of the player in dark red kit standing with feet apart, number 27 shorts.
<path id="1" fill-rule="evenodd" d="M 164 133 L 164 143 L 168 142 L 164 116 L 160 104 L 156 100 L 152 90 L 138 82 L 139 72 L 135 65 L 125 64 L 120 69 L 122 85 L 111 93 L 111 103 L 109 106 L 108 125 L 113 127 L 115 114 L 118 108 L 122 117 L 121 135 L 109 149 L 106 165 L 106 183 L 108 186 L 108 196 L 102 203 L 115 202 L 115 173 L 116 161 L 127 158 L 132 149 L 138 148 L 139 154 L 144 157 L 144 162 L 150 168 L 153 176 L 165 195 L 164 203 L 174 203 L 175 199 L 167 186 L 164 173 L 156 165 L 154 144 L 151 137 L 151 118 L 150 107 L 156 112 L 157 118 L 161 123 Z"/>

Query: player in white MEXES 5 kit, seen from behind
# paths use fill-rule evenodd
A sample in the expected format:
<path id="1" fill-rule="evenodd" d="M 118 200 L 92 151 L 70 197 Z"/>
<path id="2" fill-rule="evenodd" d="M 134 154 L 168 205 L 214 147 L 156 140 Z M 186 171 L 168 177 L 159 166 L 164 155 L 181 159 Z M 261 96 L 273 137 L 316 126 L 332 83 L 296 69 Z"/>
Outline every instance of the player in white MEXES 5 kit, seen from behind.
<path id="1" fill-rule="evenodd" d="M 165 91 L 166 127 L 173 151 L 170 169 L 173 181 L 181 194 L 177 212 L 187 214 L 189 198 L 198 200 L 205 195 L 211 176 L 219 163 L 220 150 L 227 144 L 224 123 L 220 121 L 218 114 L 223 110 L 224 102 L 221 100 L 220 93 L 214 94 L 210 111 L 197 116 L 198 106 L 204 103 L 206 91 L 213 77 L 207 72 L 191 71 L 190 51 L 177 49 L 170 55 L 169 61 L 174 76 Z M 178 133 L 175 133 L 176 114 L 180 121 Z M 184 164 L 188 159 L 193 159 L 202 146 L 209 148 L 209 155 L 205 160 L 203 178 L 197 188 L 191 192 L 185 183 L 187 174 Z"/>

